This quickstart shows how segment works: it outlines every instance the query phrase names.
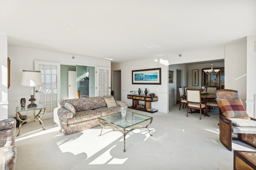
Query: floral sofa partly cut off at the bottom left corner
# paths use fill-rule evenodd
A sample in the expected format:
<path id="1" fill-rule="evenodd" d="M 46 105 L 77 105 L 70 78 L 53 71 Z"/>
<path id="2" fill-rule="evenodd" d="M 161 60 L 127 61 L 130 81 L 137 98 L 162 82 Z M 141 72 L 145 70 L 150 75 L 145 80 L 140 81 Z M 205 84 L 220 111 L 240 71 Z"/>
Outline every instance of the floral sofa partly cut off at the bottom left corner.
<path id="1" fill-rule="evenodd" d="M 16 120 L 0 120 L 0 170 L 14 170 L 17 150 L 15 144 Z"/>

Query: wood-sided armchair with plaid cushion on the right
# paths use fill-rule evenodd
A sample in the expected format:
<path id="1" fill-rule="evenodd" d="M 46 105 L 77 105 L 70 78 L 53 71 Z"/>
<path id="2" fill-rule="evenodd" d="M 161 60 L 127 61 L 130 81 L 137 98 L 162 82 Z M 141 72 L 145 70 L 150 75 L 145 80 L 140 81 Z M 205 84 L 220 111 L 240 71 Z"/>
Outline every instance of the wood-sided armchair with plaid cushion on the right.
<path id="1" fill-rule="evenodd" d="M 240 140 L 256 148 L 256 119 L 249 117 L 238 92 L 220 89 L 216 91 L 220 111 L 220 142 L 232 150 L 232 140 Z M 236 133 L 237 137 L 232 137 Z"/>

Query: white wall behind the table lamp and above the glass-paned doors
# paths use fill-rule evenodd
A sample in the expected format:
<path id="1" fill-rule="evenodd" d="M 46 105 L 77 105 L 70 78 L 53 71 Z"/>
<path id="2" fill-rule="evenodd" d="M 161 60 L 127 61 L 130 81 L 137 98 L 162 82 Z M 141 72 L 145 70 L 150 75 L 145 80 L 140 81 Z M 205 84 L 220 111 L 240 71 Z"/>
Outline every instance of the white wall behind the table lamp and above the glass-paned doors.
<path id="1" fill-rule="evenodd" d="M 98 67 L 111 67 L 110 60 L 97 57 L 86 57 L 71 55 L 68 53 L 57 53 L 38 49 L 16 47 L 8 45 L 8 56 L 11 59 L 11 87 L 8 89 L 8 117 L 16 117 L 16 106 L 20 106 L 20 99 L 30 99 L 31 89 L 20 86 L 22 70 L 34 70 L 34 61 L 50 61 L 71 64 L 95 65 Z M 75 56 L 72 59 L 72 56 Z M 7 59 L 6 59 L 7 60 Z M 29 101 L 28 101 L 29 102 Z"/>

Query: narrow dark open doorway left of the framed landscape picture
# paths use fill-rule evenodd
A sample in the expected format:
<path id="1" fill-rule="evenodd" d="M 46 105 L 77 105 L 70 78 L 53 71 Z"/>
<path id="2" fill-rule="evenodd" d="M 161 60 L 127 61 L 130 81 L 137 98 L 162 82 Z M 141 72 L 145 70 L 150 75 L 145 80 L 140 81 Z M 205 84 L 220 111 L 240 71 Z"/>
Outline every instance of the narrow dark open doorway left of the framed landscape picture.
<path id="1" fill-rule="evenodd" d="M 121 70 L 113 71 L 114 99 L 121 100 Z"/>

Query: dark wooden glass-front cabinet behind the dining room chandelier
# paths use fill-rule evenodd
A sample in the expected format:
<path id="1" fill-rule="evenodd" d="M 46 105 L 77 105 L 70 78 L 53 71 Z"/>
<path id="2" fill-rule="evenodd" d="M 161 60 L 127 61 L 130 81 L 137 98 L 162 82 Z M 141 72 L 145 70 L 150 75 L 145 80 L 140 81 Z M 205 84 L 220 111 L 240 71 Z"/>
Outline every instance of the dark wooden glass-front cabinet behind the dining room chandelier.
<path id="1" fill-rule="evenodd" d="M 217 89 L 224 89 L 225 83 L 225 71 L 224 68 L 214 68 L 220 69 L 217 73 L 205 73 L 202 69 L 202 86 L 205 87 L 217 87 Z"/>

